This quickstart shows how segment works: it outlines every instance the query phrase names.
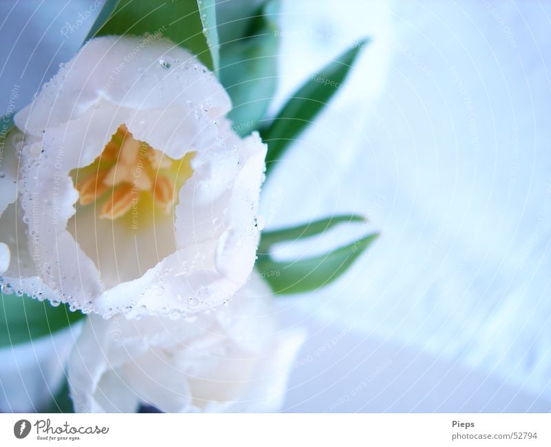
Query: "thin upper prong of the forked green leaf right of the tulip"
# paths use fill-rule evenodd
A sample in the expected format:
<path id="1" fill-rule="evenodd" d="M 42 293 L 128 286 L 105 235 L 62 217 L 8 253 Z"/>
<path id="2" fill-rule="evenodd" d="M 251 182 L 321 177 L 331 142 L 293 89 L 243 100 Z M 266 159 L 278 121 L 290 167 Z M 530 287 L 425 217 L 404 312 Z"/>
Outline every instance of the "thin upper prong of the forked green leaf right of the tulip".
<path id="1" fill-rule="evenodd" d="M 297 225 L 296 227 L 262 231 L 262 238 L 260 239 L 258 251 L 260 253 L 267 253 L 271 245 L 278 244 L 279 242 L 309 238 L 316 234 L 323 233 L 336 225 L 350 222 L 367 222 L 367 219 L 357 214 L 344 214 L 341 216 L 331 216 L 329 218 L 315 220 L 314 222 Z"/>

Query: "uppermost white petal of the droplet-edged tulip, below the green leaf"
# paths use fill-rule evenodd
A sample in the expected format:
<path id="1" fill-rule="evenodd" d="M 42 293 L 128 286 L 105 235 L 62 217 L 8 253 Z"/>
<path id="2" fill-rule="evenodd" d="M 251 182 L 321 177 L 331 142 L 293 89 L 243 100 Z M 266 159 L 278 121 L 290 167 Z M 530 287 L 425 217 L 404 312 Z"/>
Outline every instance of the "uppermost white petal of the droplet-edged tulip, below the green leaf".
<path id="1" fill-rule="evenodd" d="M 170 67 L 163 67 L 161 60 Z M 44 85 L 37 99 L 15 116 L 15 123 L 40 136 L 48 127 L 83 116 L 104 99 L 131 110 L 190 105 L 213 118 L 231 108 L 215 77 L 175 43 L 110 36 L 87 42 Z"/>

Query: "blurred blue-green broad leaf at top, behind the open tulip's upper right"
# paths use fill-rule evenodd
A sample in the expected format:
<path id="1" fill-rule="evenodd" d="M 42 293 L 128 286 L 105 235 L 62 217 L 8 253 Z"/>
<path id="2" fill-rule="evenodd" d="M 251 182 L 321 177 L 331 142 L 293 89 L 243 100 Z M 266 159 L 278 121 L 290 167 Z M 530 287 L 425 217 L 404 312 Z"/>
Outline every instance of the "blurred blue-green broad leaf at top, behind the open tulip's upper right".
<path id="1" fill-rule="evenodd" d="M 220 81 L 233 103 L 228 117 L 242 136 L 259 127 L 277 87 L 279 7 L 277 0 L 266 2 L 247 19 L 245 37 L 220 40 Z"/>

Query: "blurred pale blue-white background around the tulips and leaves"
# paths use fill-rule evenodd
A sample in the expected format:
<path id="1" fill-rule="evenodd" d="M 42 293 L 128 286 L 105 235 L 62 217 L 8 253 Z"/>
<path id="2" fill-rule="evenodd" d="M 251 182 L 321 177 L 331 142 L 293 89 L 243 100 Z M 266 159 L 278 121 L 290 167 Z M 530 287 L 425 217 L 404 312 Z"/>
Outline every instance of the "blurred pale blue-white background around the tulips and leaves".
<path id="1" fill-rule="evenodd" d="M 0 1 L 3 110 L 70 59 L 87 30 L 61 29 L 91 3 Z M 282 4 L 274 110 L 371 43 L 264 187 L 267 227 L 370 219 L 281 256 L 382 232 L 330 287 L 279 299 L 309 329 L 284 410 L 551 410 L 551 5 Z"/>

